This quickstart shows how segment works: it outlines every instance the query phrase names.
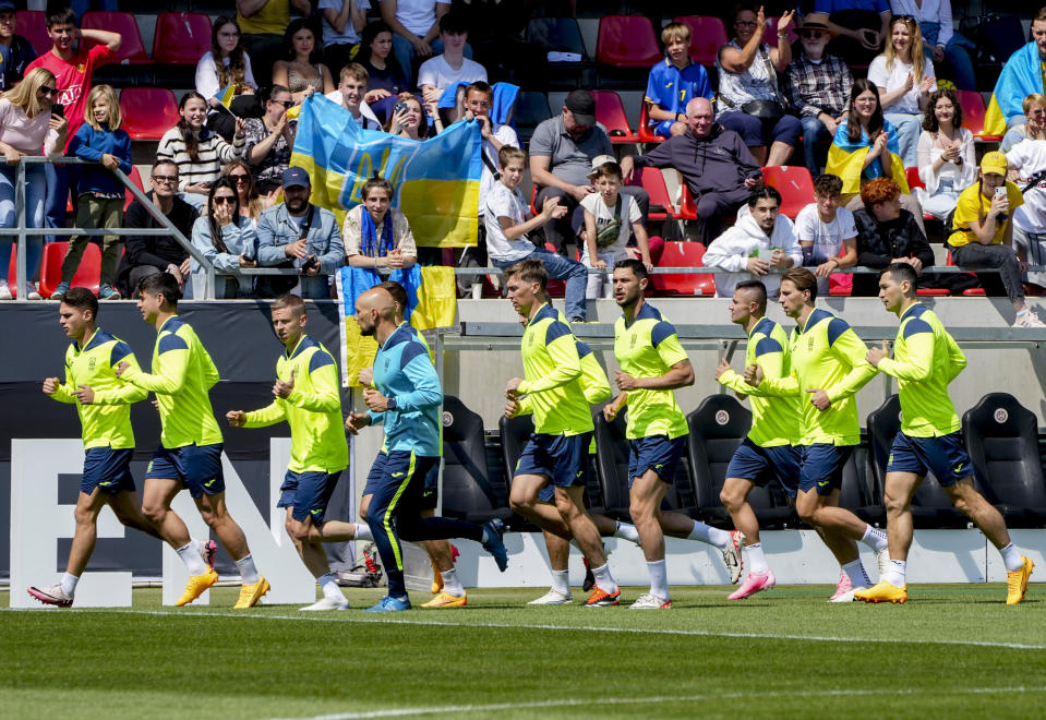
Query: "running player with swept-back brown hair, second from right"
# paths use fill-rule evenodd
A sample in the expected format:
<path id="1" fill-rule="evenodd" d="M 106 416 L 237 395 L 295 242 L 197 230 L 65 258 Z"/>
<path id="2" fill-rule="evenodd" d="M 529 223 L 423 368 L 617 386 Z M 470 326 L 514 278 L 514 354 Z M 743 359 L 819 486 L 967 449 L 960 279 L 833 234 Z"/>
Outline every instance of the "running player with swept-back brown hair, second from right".
<path id="1" fill-rule="evenodd" d="M 876 552 L 880 577 L 889 562 L 886 533 L 839 506 L 843 468 L 861 442 L 853 396 L 876 369 L 865 359 L 868 348 L 857 334 L 841 317 L 815 309 L 816 298 L 817 277 L 808 269 L 795 267 L 781 277 L 781 307 L 796 322 L 791 372 L 770 377 L 756 361 L 745 369 L 745 382 L 767 395 L 799 398 L 803 465 L 795 509 L 818 530 L 850 579 L 851 589 L 833 596 L 832 602 L 852 602 L 855 590 L 871 587 L 856 541 Z"/>

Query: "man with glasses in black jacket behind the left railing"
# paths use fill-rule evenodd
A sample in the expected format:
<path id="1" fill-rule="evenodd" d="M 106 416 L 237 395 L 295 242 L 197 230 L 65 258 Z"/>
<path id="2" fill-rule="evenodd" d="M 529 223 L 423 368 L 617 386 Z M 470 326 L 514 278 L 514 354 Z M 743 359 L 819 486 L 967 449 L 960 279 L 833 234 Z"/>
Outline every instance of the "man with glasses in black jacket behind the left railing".
<path id="1" fill-rule="evenodd" d="M 157 211 L 163 213 L 185 242 L 192 237 L 192 226 L 200 211 L 178 196 L 178 166 L 170 160 L 157 160 L 149 180 L 153 189 L 145 193 Z M 154 218 L 145 206 L 133 201 L 123 218 L 125 228 L 155 229 L 164 225 Z M 181 288 L 185 288 L 191 268 L 189 251 L 173 237 L 163 235 L 128 236 L 123 259 L 117 273 L 117 287 L 130 297 L 137 297 L 139 283 L 149 275 L 170 273 Z M 184 291 L 184 290 L 183 290 Z"/>

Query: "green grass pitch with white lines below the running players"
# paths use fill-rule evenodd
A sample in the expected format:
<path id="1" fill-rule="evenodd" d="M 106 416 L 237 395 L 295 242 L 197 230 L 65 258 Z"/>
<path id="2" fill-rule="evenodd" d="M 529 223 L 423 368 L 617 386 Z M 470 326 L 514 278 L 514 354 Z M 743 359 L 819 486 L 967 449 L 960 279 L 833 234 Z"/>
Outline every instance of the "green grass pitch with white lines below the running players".
<path id="1" fill-rule="evenodd" d="M 625 588 L 626 602 L 642 589 Z M 5 611 L 2 718 L 1041 718 L 1046 616 L 1000 585 L 915 586 L 905 605 L 827 603 L 827 586 L 728 602 L 673 588 L 669 611 L 528 608 L 541 589 L 469 605 L 352 610 Z M 426 593 L 414 592 L 417 603 Z M 580 596 L 575 592 L 575 599 Z"/>

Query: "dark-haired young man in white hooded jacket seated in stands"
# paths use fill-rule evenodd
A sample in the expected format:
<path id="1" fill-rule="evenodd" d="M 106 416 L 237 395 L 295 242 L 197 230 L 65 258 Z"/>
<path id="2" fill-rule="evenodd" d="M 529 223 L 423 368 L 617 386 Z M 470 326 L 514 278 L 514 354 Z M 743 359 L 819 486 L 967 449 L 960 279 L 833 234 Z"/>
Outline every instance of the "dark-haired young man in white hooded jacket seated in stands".
<path id="1" fill-rule="evenodd" d="M 705 265 L 731 271 L 716 274 L 717 297 L 732 298 L 738 283 L 762 280 L 767 295 L 776 298 L 781 276 L 770 271 L 803 264 L 792 220 L 780 209 L 781 193 L 773 188 L 757 188 L 748 195 L 748 212 L 740 213 L 734 227 L 708 245 Z"/>

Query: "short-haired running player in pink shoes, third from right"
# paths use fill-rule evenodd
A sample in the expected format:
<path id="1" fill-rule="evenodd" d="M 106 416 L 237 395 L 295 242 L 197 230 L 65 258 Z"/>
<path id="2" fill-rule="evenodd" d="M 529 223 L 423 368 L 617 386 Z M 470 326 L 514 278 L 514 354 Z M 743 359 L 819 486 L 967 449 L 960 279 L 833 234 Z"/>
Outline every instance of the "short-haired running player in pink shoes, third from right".
<path id="1" fill-rule="evenodd" d="M 748 344 L 745 367 L 758 363 L 770 377 L 782 379 L 791 373 L 789 338 L 778 323 L 767 314 L 767 288 L 759 280 L 738 283 L 730 301 L 730 320 L 745 329 Z M 795 497 L 799 477 L 798 416 L 794 397 L 773 398 L 762 395 L 723 359 L 716 369 L 716 380 L 731 388 L 737 397 L 748 397 L 752 406 L 752 429 L 726 467 L 726 481 L 719 499 L 730 513 L 734 527 L 745 536 L 748 550 L 748 576 L 728 600 L 742 600 L 774 585 L 773 573 L 767 564 L 759 541 L 759 520 L 748 494 L 756 485 L 764 487 L 777 480 L 789 495 Z"/>

